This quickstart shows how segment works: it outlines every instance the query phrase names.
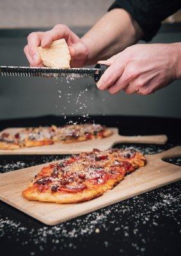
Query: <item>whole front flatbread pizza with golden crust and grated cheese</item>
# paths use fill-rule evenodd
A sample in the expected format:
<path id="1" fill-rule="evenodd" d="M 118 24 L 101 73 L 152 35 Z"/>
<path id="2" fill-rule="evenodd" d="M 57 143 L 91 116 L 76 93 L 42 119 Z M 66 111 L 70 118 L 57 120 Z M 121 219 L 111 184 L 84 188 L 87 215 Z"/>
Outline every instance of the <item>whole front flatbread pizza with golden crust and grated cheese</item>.
<path id="1" fill-rule="evenodd" d="M 135 150 L 94 149 L 43 167 L 22 195 L 28 200 L 59 204 L 91 200 L 145 163 L 145 157 Z"/>

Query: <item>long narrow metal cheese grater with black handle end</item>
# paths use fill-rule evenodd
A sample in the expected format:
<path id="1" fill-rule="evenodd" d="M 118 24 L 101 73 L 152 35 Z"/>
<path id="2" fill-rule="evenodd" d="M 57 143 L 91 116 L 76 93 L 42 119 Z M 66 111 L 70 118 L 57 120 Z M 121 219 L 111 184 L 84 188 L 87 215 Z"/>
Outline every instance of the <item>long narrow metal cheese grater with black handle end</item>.
<path id="1" fill-rule="evenodd" d="M 95 68 L 48 68 L 48 67 L 12 67 L 0 66 L 0 76 L 36 76 L 67 77 L 70 79 L 93 77 L 97 83 L 107 66 L 95 65 Z"/>

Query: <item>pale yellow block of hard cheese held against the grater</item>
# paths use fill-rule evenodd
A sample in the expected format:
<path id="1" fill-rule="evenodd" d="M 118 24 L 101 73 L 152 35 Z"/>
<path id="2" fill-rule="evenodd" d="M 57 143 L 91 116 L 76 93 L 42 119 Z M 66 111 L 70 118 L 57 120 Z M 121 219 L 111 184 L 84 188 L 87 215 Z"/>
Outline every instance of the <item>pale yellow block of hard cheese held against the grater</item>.
<path id="1" fill-rule="evenodd" d="M 64 38 L 52 42 L 49 48 L 38 47 L 38 52 L 45 67 L 70 67 L 70 52 Z"/>

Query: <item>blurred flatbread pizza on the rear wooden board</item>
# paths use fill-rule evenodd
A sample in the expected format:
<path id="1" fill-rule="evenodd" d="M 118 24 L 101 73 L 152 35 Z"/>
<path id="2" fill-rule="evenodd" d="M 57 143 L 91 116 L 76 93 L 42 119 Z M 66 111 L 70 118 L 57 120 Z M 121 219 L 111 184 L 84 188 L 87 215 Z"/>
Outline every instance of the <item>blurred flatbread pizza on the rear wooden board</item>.
<path id="1" fill-rule="evenodd" d="M 26 147 L 38 147 L 54 143 L 75 143 L 103 139 L 111 136 L 113 131 L 100 124 L 75 124 L 63 127 L 27 127 L 19 132 L 2 132 L 0 149 L 16 150 Z"/>

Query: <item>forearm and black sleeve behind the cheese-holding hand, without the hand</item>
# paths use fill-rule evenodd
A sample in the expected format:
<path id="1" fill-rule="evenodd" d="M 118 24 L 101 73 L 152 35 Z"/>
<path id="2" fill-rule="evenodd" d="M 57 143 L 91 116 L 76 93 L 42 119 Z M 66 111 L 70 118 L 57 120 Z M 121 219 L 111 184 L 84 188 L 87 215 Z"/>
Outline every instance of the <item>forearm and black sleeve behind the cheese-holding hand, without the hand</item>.
<path id="1" fill-rule="evenodd" d="M 180 0 L 116 0 L 82 40 L 89 49 L 86 64 L 106 60 L 139 39 L 150 41 L 162 20 L 181 7 Z"/>

